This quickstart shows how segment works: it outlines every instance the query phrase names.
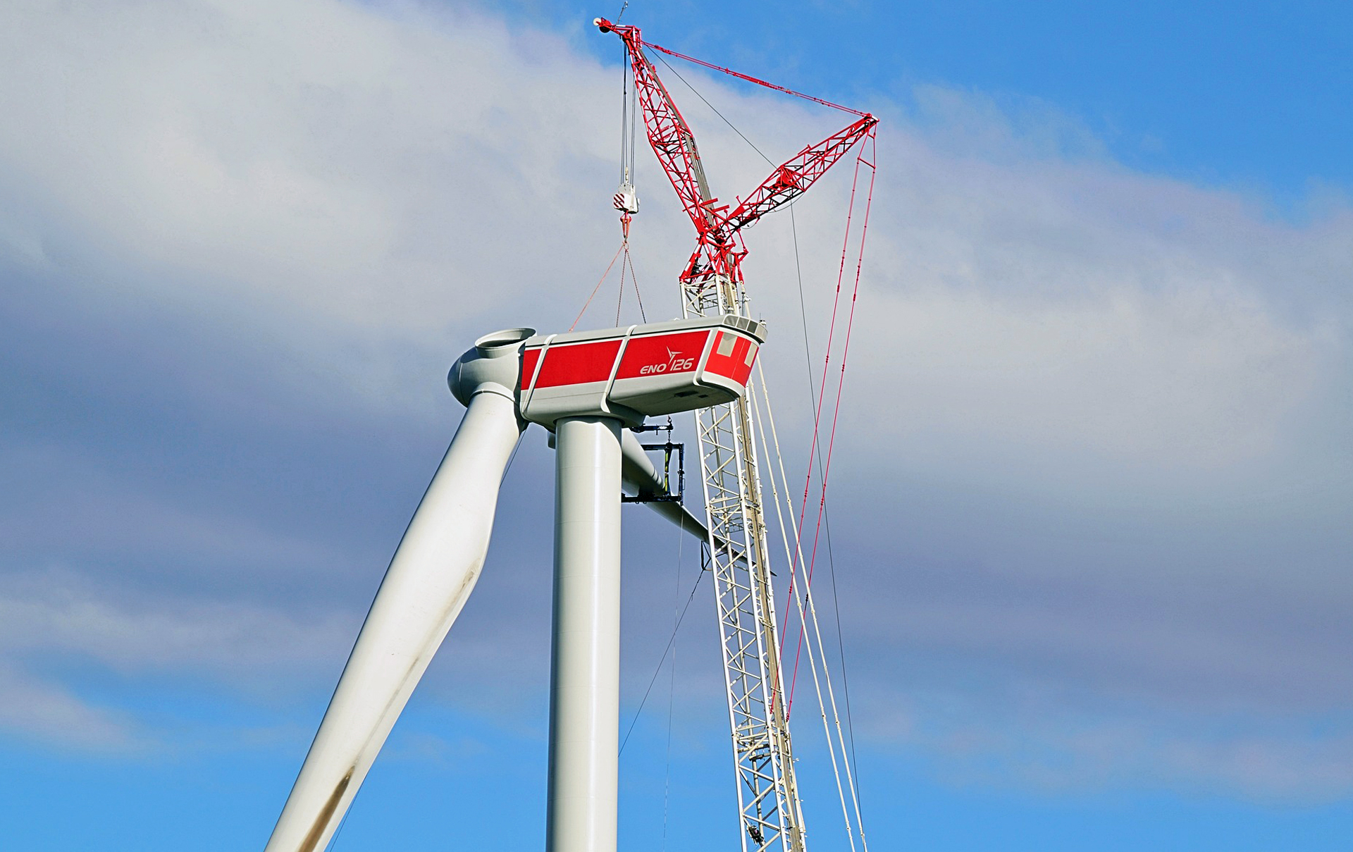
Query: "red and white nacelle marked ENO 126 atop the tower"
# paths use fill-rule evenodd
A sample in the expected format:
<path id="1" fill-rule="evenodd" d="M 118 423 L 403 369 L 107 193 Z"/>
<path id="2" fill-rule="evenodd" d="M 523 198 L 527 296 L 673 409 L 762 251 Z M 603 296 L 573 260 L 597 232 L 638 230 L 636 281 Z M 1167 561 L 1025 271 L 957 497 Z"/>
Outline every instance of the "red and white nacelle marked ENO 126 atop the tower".
<path id="1" fill-rule="evenodd" d="M 732 402 L 764 339 L 763 323 L 731 315 L 537 335 L 522 348 L 518 410 L 549 429 L 582 415 L 640 426 Z"/>

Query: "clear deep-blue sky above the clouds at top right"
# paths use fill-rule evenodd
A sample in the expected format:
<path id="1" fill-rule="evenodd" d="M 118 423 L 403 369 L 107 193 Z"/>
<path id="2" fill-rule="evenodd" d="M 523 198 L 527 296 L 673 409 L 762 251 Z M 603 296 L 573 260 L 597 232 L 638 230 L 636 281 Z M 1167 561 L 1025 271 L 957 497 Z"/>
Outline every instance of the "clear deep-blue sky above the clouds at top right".
<path id="1" fill-rule="evenodd" d="M 507 4 L 561 28 L 578 4 Z M 649 8 L 651 7 L 651 8 Z M 620 11 L 606 14 L 614 18 Z M 626 12 L 666 46 L 838 97 L 943 82 L 1009 105 L 1045 101 L 1115 160 L 1283 204 L 1353 180 L 1353 30 L 1338 3 L 674 1 Z"/>

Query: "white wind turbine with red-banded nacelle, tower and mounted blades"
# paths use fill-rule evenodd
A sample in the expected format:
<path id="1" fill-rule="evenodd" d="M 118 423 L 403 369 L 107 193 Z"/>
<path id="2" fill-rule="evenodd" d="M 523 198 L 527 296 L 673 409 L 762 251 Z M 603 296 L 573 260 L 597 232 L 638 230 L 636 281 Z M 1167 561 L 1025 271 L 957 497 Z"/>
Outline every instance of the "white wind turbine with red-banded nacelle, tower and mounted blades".
<path id="1" fill-rule="evenodd" d="M 326 848 L 479 579 L 498 484 L 528 423 L 555 434 L 548 852 L 613 852 L 620 729 L 621 488 L 666 494 L 626 427 L 737 399 L 760 323 L 700 318 L 475 341 L 448 384 L 465 417 L 361 626 L 267 852 Z M 651 506 L 693 534 L 679 503 Z"/>

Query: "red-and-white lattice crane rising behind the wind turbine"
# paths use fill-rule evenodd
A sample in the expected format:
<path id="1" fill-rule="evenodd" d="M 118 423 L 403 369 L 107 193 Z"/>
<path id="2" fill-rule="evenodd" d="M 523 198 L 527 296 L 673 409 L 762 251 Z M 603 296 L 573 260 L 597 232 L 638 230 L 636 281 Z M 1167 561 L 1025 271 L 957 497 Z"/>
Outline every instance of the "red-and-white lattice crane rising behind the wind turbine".
<path id="1" fill-rule="evenodd" d="M 649 146 L 695 226 L 695 250 L 679 276 L 683 315 L 744 316 L 743 229 L 806 192 L 858 142 L 873 138 L 878 119 L 647 43 L 639 27 L 599 18 L 594 23 L 625 43 Z M 644 54 L 645 46 L 859 118 L 775 166 L 736 206 L 720 204 L 709 189 L 695 134 Z M 709 567 L 728 690 L 741 848 L 802 852 L 805 826 L 786 715 L 754 417 L 746 399 L 695 412 Z"/>

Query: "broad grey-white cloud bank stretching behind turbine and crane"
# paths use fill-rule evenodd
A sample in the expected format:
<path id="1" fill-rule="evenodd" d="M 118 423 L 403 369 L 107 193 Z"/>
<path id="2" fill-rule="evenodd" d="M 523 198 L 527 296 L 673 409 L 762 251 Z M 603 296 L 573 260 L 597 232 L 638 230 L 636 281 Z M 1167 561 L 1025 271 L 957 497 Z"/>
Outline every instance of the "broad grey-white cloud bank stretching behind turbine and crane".
<path id="1" fill-rule="evenodd" d="M 0 12 L 0 722 L 139 736 L 39 657 L 273 686 L 341 664 L 455 422 L 438 373 L 491 327 L 566 325 L 614 250 L 616 76 L 464 9 Z M 771 154 L 835 120 L 690 80 Z M 1306 774 L 1323 780 L 1287 787 L 1346 795 L 1329 755 L 1348 726 L 1289 732 L 1350 702 L 1353 212 L 1326 197 L 1296 222 L 1134 173 L 1042 104 L 927 87 L 875 107 L 831 492 L 861 694 L 943 694 L 908 725 L 980 718 L 1003 733 L 966 753 L 1015 778 L 1057 775 L 1061 749 L 1151 783 Z M 716 192 L 746 191 L 767 166 L 701 110 Z M 645 303 L 674 312 L 689 224 L 640 170 Z M 815 335 L 846 191 L 794 211 Z M 748 275 L 802 440 L 792 233 L 758 226 Z M 524 549 L 548 541 L 499 533 L 449 646 L 475 660 L 434 671 L 494 706 L 494 665 L 538 673 L 513 641 L 538 644 L 548 613 L 548 550 Z M 632 595 L 658 584 L 633 576 Z M 1058 740 L 992 715 L 1007 688 L 1100 709 Z M 1268 722 L 1208 726 L 1218 707 Z M 947 736 L 913 742 L 971 763 Z"/>

